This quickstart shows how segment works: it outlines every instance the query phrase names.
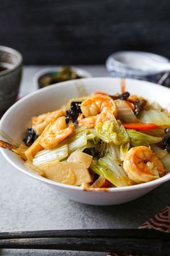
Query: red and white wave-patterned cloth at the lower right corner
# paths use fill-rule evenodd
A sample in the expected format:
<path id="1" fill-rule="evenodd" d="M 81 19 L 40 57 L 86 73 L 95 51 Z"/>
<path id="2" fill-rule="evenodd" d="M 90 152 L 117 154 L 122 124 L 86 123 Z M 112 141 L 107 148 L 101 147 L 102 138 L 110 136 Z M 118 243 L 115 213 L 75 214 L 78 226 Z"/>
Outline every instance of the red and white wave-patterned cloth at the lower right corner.
<path id="1" fill-rule="evenodd" d="M 170 233 L 170 205 L 161 210 L 161 213 L 157 213 L 153 218 L 143 223 L 139 229 L 156 229 L 158 231 L 164 231 Z M 109 254 L 107 256 L 138 256 L 138 255 L 117 255 L 116 253 Z M 144 255 L 143 255 L 144 256 Z"/>

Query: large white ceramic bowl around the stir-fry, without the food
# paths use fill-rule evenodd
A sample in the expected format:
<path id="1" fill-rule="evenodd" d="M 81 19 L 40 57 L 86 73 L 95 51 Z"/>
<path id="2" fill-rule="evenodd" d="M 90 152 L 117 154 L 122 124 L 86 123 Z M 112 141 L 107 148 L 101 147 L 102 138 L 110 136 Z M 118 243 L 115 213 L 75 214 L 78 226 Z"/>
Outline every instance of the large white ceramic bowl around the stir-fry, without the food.
<path id="1" fill-rule="evenodd" d="M 127 79 L 125 84 L 128 92 L 142 95 L 150 101 L 157 101 L 164 108 L 169 108 L 170 90 L 168 88 L 164 88 L 161 85 L 156 85 L 151 82 L 130 79 Z M 6 114 L 4 114 L 1 119 L 0 129 L 14 141 L 21 142 L 25 130 L 30 125 L 32 116 L 42 114 L 46 111 L 53 111 L 64 103 L 67 103 L 70 98 L 79 97 L 84 93 L 90 94 L 95 91 L 104 91 L 109 94 L 120 92 L 120 79 L 110 77 L 86 78 L 82 80 L 61 82 L 60 84 L 37 90 L 22 98 L 6 111 Z M 81 187 L 60 184 L 58 182 L 53 182 L 50 179 L 45 179 L 42 176 L 38 176 L 34 171 L 27 168 L 17 155 L 9 150 L 1 148 L 1 153 L 7 161 L 12 163 L 14 167 L 24 174 L 27 174 L 40 182 L 44 182 L 72 200 L 91 205 L 115 205 L 122 202 L 128 202 L 145 195 L 152 189 L 158 187 L 158 185 L 170 179 L 170 174 L 166 174 L 166 176 L 152 182 L 130 187 L 110 188 L 107 192 L 84 191 Z M 37 182 L 37 186 L 38 185 L 39 183 Z"/>

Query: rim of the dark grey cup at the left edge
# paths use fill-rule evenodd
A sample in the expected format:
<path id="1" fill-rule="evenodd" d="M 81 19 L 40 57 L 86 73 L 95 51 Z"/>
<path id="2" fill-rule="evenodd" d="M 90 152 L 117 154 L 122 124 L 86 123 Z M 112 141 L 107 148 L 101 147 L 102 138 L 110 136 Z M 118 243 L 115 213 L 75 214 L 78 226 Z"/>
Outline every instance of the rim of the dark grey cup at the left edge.
<path id="1" fill-rule="evenodd" d="M 8 46 L 0 46 L 0 51 L 5 51 L 9 54 L 14 54 L 17 57 L 19 57 L 18 63 L 16 65 L 14 65 L 14 67 L 12 69 L 6 69 L 4 71 L 1 71 L 0 77 L 3 77 L 6 74 L 12 73 L 12 72 L 14 72 L 14 70 L 16 70 L 17 68 L 22 66 L 23 58 L 22 58 L 22 54 L 20 54 L 19 51 L 15 50 L 14 48 L 10 48 Z"/>

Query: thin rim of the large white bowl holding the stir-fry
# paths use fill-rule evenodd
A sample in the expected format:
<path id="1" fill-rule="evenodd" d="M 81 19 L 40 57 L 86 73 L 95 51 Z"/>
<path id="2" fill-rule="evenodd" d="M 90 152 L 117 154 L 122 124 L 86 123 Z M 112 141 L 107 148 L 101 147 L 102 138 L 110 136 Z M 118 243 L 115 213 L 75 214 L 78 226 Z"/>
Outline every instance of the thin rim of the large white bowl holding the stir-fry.
<path id="1" fill-rule="evenodd" d="M 80 79 L 82 82 L 86 82 L 86 81 L 91 81 L 91 80 L 120 80 L 119 77 L 89 77 L 89 78 L 82 78 Z M 135 79 L 131 79 L 131 78 L 125 78 L 125 80 L 128 80 L 128 81 L 136 81 L 136 82 L 140 82 L 140 83 L 146 83 L 148 84 L 148 86 L 153 86 L 153 87 L 158 87 L 160 88 L 161 90 L 165 90 L 166 92 L 169 91 L 170 93 L 170 90 L 169 88 L 165 88 L 163 87 L 162 85 L 158 85 L 158 84 L 155 84 L 153 82 L 148 82 L 148 81 L 142 81 L 142 80 L 135 80 Z M 60 87 L 60 86 L 67 86 L 69 83 L 73 83 L 75 82 L 76 80 L 69 80 L 69 81 L 66 81 L 66 82 L 58 82 L 57 84 L 54 84 L 54 85 L 50 85 L 50 86 L 47 86 L 45 88 L 41 88 L 39 90 L 35 90 L 34 92 L 32 93 L 29 93 L 28 95 L 24 96 L 23 98 L 21 98 L 19 101 L 17 101 L 16 103 L 14 103 L 14 105 L 12 105 L 6 112 L 5 114 L 2 116 L 1 120 L 0 120 L 0 130 L 1 130 L 1 126 L 3 124 L 3 121 L 4 119 L 6 119 L 6 116 L 11 112 L 13 111 L 13 109 L 18 106 L 19 104 L 22 104 L 23 101 L 25 101 L 27 98 L 31 98 L 32 95 L 36 95 L 38 93 L 40 93 L 42 90 L 45 91 L 45 90 L 51 90 L 52 88 L 57 88 L 57 87 Z M 47 183 L 47 184 L 50 184 L 50 185 L 54 185 L 56 187 L 62 187 L 62 188 L 67 188 L 67 189 L 75 189 L 75 190 L 81 190 L 81 191 L 86 191 L 86 189 L 84 187 L 76 187 L 76 186 L 73 186 L 73 185 L 68 185 L 68 184 L 62 184 L 60 182 L 54 182 L 50 179 L 47 179 L 43 176 L 40 176 L 40 175 L 35 175 L 35 172 L 32 171 L 30 169 L 30 171 L 28 172 L 27 169 L 24 169 L 24 168 L 20 168 L 19 166 L 17 166 L 17 163 L 14 163 L 14 161 L 11 160 L 11 158 L 9 157 L 9 155 L 6 153 L 6 149 L 4 148 L 0 148 L 0 152 L 2 153 L 2 155 L 4 155 L 4 158 L 6 158 L 7 161 L 9 161 L 9 163 L 12 164 L 12 166 L 14 166 L 15 168 L 17 168 L 19 171 L 22 171 L 24 174 L 27 174 L 28 176 L 31 176 L 33 179 L 37 179 L 43 183 Z M 132 190 L 137 190 L 137 189 L 145 189 L 145 188 L 148 188 L 148 187 L 156 187 L 164 182 L 167 182 L 170 180 L 170 173 L 169 174 L 166 174 L 165 176 L 162 176 L 161 178 L 158 178 L 158 179 L 155 179 L 151 182 L 146 182 L 146 183 L 141 183 L 141 184 L 135 184 L 135 185 L 130 185 L 130 186 L 125 186 L 125 187 L 112 187 L 112 188 L 107 188 L 107 192 L 125 192 L 125 191 L 132 191 Z M 88 189 L 89 191 L 92 191 L 92 192 L 103 192 L 103 190 L 101 189 Z"/>

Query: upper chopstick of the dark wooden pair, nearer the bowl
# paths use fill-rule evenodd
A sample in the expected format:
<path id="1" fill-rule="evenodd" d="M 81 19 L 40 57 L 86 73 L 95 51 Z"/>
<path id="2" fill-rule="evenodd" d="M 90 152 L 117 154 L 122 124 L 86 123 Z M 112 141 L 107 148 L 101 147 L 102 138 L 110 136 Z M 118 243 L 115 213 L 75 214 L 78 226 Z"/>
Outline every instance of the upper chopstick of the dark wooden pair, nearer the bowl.
<path id="1" fill-rule="evenodd" d="M 148 238 L 170 242 L 170 234 L 155 229 L 63 229 L 40 231 L 0 232 L 0 239 L 47 238 L 47 237 L 112 237 Z"/>

